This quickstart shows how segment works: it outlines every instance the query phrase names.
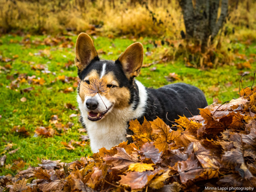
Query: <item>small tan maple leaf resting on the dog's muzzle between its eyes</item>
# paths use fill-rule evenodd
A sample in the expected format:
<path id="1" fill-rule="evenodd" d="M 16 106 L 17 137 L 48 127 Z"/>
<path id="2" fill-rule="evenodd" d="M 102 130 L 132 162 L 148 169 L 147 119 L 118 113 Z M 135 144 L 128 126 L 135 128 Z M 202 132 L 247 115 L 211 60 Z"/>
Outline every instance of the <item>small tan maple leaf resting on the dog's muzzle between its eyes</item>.
<path id="1" fill-rule="evenodd" d="M 100 80 L 95 78 L 90 78 L 89 81 L 90 81 L 90 84 L 84 84 L 86 88 L 85 93 L 88 96 L 93 97 L 97 93 L 106 95 L 110 91 L 110 88 L 107 87 L 107 82 L 103 78 Z"/>

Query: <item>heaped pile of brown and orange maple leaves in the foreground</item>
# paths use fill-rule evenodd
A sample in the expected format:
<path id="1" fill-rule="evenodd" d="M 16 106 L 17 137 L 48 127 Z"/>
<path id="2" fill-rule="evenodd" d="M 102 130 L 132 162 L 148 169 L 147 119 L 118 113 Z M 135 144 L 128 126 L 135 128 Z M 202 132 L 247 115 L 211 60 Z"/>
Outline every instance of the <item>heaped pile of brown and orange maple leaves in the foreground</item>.
<path id="1" fill-rule="evenodd" d="M 222 106 L 180 117 L 130 122 L 134 142 L 71 163 L 42 160 L 16 176 L 0 177 L 10 191 L 202 191 L 256 187 L 256 88 Z M 227 190 L 227 189 L 225 189 Z"/>

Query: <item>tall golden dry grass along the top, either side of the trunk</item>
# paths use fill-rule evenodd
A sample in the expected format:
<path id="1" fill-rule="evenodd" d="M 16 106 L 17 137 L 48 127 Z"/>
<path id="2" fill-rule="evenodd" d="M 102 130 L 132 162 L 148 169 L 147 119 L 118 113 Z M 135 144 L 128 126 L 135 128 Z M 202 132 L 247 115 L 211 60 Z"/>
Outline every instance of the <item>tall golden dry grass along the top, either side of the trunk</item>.
<path id="1" fill-rule="evenodd" d="M 178 0 L 0 0 L 0 7 L 0 32 L 72 30 L 180 39 L 180 31 L 185 30 Z M 232 28 L 243 29 L 242 37 L 255 39 L 256 3 L 240 1 L 237 9 L 230 3 L 230 10 L 226 30 L 231 34 Z"/>

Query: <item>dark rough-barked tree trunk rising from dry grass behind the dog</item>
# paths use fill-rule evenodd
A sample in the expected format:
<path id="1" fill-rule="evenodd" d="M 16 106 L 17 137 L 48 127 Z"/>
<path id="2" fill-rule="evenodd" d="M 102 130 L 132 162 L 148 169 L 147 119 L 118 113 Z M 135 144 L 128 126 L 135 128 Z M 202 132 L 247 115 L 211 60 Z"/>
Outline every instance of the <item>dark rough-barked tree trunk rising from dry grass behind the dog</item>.
<path id="1" fill-rule="evenodd" d="M 220 4 L 221 2 L 221 4 Z M 211 41 L 218 34 L 228 14 L 228 0 L 180 0 L 186 38 L 201 44 L 202 52 L 211 36 Z M 221 14 L 218 18 L 218 9 Z"/>

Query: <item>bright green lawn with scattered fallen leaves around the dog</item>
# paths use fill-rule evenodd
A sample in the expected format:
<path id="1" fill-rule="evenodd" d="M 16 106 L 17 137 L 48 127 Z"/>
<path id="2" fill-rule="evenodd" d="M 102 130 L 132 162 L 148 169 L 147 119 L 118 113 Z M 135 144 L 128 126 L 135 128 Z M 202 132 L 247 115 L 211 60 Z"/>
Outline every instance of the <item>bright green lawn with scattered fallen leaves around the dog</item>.
<path id="1" fill-rule="evenodd" d="M 44 39 L 45 36 L 32 36 L 31 39 Z M 0 167 L 0 175 L 6 175 L 8 173 L 14 175 L 17 170 L 12 170 L 8 166 L 12 166 L 14 160 L 21 158 L 26 162 L 26 167 L 29 165 L 37 166 L 40 163 L 40 159 L 62 160 L 64 162 L 71 162 L 79 159 L 81 156 L 90 154 L 89 141 L 85 147 L 75 146 L 74 150 L 67 150 L 61 142 L 69 142 L 71 139 L 80 141 L 81 134 L 78 129 L 82 126 L 78 122 L 78 117 L 69 117 L 70 114 L 78 114 L 78 111 L 65 108 L 66 103 L 71 103 L 73 106 L 77 106 L 76 103 L 76 91 L 64 93 L 63 90 L 73 86 L 74 80 L 70 80 L 70 83 L 63 83 L 58 80 L 58 76 L 76 77 L 76 66 L 74 64 L 68 69 L 64 67 L 64 64 L 69 60 L 74 60 L 74 48 L 60 48 L 59 46 L 46 46 L 46 45 L 31 45 L 23 46 L 17 43 L 10 43 L 10 40 L 21 41 L 23 37 L 5 35 L 0 37 L 0 55 L 3 57 L 12 58 L 14 55 L 18 55 L 12 62 L 0 62 L 1 66 L 11 64 L 10 70 L 1 70 L 0 72 L 0 153 L 7 155 L 6 163 L 3 167 Z M 75 42 L 76 37 L 72 37 L 72 41 Z M 128 39 L 109 39 L 105 37 L 98 37 L 94 39 L 96 49 L 102 49 L 106 54 L 100 54 L 100 58 L 115 60 L 118 58 L 121 52 L 125 50 L 127 46 L 133 43 Z M 144 44 L 145 52 L 146 47 L 151 48 L 154 52 L 152 44 L 148 44 L 148 39 L 142 40 Z M 249 55 L 250 53 L 256 53 L 256 44 L 245 46 L 242 43 L 232 43 L 234 48 L 238 48 L 242 54 Z M 31 56 L 31 53 L 38 53 L 39 50 L 49 50 L 50 57 L 48 56 Z M 112 52 L 112 53 L 110 53 Z M 108 54 L 110 53 L 110 54 Z M 150 57 L 144 59 L 144 63 L 151 63 L 154 60 Z M 33 63 L 34 62 L 34 63 Z M 234 63 L 241 62 L 235 60 Z M 56 75 L 44 74 L 39 70 L 32 70 L 31 65 L 44 64 L 52 73 Z M 150 68 L 157 67 L 156 70 L 151 71 Z M 252 85 L 253 69 L 255 69 L 256 63 L 252 63 L 252 69 L 244 69 L 243 71 L 250 71 L 248 76 L 243 78 L 243 86 Z M 234 90 L 238 88 L 241 76 L 238 74 L 240 70 L 236 69 L 236 66 L 222 66 L 211 70 L 198 70 L 195 68 L 186 68 L 183 60 L 178 60 L 172 63 L 156 64 L 148 68 L 142 68 L 141 75 L 137 78 L 145 86 L 152 86 L 158 88 L 169 84 L 164 76 L 168 76 L 170 72 L 178 74 L 181 80 L 175 82 L 185 82 L 197 86 L 206 95 L 208 104 L 213 102 L 213 99 L 218 99 L 221 102 L 231 100 L 232 98 L 238 98 L 238 91 Z M 7 77 L 14 76 L 14 79 L 19 74 L 26 73 L 28 76 L 35 75 L 36 78 L 43 78 L 46 82 L 43 85 L 29 85 L 28 82 L 20 83 L 16 89 L 10 89 L 12 80 Z M 31 92 L 20 93 L 23 88 L 34 87 Z M 20 98 L 25 97 L 26 102 L 21 102 Z M 14 112 L 16 111 L 16 112 Z M 49 120 L 52 115 L 58 115 L 59 122 L 67 124 L 68 122 L 74 123 L 72 128 L 69 128 L 66 132 L 56 131 L 53 137 L 45 138 L 44 136 L 34 136 L 34 130 L 39 126 L 50 126 Z M 30 133 L 29 136 L 23 136 L 20 133 L 12 131 L 14 126 L 25 126 L 26 130 Z M 52 128 L 57 130 L 52 124 Z M 10 150 L 20 148 L 14 154 L 8 154 L 4 150 L 5 145 L 8 143 L 14 144 Z"/>

